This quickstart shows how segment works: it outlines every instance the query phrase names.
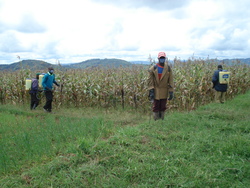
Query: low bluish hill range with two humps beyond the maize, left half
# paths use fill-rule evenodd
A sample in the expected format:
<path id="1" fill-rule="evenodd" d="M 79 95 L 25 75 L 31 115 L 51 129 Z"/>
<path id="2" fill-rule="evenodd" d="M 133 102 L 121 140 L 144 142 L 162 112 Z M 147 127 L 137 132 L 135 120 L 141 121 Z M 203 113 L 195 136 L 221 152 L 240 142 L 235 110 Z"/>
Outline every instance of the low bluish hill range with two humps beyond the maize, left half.
<path id="1" fill-rule="evenodd" d="M 9 65 L 1 65 L 0 64 L 0 71 L 17 71 L 20 69 L 30 69 L 32 71 L 47 71 L 47 68 L 52 66 L 58 70 L 65 70 L 65 69 L 86 69 L 86 68 L 93 68 L 93 67 L 105 67 L 105 68 L 112 68 L 112 67 L 129 67 L 133 64 L 121 59 L 90 59 L 87 61 L 82 61 L 80 63 L 72 63 L 72 64 L 61 64 L 55 65 L 50 64 L 45 61 L 41 60 L 22 60 L 20 62 L 12 63 Z"/>

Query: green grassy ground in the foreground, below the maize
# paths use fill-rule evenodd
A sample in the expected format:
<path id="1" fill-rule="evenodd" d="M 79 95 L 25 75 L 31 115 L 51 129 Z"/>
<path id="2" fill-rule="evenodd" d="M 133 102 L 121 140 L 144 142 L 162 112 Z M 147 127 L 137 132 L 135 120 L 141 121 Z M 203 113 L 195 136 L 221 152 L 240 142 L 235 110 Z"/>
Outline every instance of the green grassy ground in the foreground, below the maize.
<path id="1" fill-rule="evenodd" d="M 250 187 L 250 92 L 171 112 L 0 106 L 0 187 Z"/>

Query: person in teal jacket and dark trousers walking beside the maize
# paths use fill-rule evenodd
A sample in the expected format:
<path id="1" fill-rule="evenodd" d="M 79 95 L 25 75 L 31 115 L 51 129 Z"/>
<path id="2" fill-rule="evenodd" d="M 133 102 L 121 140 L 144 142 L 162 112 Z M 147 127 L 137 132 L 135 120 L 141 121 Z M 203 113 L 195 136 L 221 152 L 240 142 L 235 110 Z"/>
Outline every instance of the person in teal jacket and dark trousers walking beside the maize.
<path id="1" fill-rule="evenodd" d="M 53 84 L 56 84 L 59 87 L 59 84 L 55 81 L 54 69 L 52 67 L 48 68 L 48 72 L 44 75 L 42 86 L 44 88 L 46 104 L 43 109 L 46 112 L 51 112 L 52 110 L 52 101 L 53 101 Z"/>

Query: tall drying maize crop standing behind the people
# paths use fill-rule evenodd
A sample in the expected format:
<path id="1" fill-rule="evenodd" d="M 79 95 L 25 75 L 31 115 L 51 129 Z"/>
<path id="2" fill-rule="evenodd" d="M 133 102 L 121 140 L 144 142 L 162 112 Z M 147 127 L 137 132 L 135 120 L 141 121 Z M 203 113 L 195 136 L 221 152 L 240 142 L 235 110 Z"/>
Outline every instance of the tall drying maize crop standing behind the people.
<path id="1" fill-rule="evenodd" d="M 217 70 L 214 60 L 189 59 L 182 62 L 174 59 L 170 64 L 174 75 L 174 99 L 168 101 L 170 110 L 193 110 L 213 102 L 212 75 Z M 230 72 L 230 83 L 226 99 L 245 93 L 250 89 L 250 66 L 235 61 L 222 64 Z M 147 112 L 151 107 L 148 100 L 148 66 L 134 65 L 118 69 L 77 69 L 60 71 L 55 68 L 56 81 L 60 87 L 54 91 L 53 108 L 97 107 L 134 108 Z M 43 72 L 47 71 L 47 67 Z M 41 70 L 38 70 L 41 72 Z M 30 95 L 25 90 L 25 79 L 35 77 L 35 72 L 22 69 L 0 75 L 0 103 L 29 104 Z M 42 105 L 45 97 L 41 99 Z M 41 105 L 41 104 L 40 104 Z M 41 108 L 41 106 L 39 106 Z"/>

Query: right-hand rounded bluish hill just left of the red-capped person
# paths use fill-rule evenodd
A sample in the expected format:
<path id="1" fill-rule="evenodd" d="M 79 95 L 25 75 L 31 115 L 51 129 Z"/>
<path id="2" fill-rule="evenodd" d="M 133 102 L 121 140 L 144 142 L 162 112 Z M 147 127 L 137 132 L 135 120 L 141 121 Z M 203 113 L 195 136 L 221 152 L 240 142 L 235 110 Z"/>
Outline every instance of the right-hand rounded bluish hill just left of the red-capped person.
<path id="1" fill-rule="evenodd" d="M 65 68 L 71 69 L 86 69 L 86 68 L 94 68 L 94 67 L 104 67 L 104 68 L 113 68 L 113 67 L 129 67 L 133 64 L 121 60 L 121 59 L 90 59 L 86 61 L 82 61 L 80 63 L 72 63 L 68 65 L 62 65 Z"/>

